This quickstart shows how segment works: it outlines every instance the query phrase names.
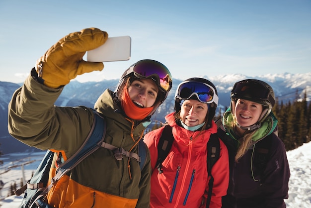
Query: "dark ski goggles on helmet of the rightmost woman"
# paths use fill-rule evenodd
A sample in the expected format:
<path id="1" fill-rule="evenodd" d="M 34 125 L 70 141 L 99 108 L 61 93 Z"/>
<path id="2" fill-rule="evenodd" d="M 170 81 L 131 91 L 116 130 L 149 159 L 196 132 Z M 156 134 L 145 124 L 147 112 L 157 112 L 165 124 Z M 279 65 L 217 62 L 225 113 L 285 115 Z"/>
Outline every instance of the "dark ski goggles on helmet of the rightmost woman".
<path id="1" fill-rule="evenodd" d="M 260 104 L 274 104 L 269 89 L 254 80 L 240 81 L 234 84 L 231 91 L 232 99 L 245 99 Z"/>

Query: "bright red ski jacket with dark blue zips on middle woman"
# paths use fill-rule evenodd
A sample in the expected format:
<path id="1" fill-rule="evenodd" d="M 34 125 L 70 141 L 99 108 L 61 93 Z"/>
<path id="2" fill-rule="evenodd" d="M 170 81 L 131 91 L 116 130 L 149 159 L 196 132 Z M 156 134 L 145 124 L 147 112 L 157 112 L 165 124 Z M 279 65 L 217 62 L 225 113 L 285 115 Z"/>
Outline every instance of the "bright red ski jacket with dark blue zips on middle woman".
<path id="1" fill-rule="evenodd" d="M 174 113 L 165 116 L 172 126 L 174 141 L 162 163 L 161 174 L 156 169 L 157 145 L 163 127 L 149 132 L 144 141 L 150 149 L 151 208 L 205 208 L 210 177 L 207 173 L 207 142 L 217 126 L 204 131 L 190 131 L 176 124 Z M 220 139 L 219 139 L 220 140 Z M 214 186 L 210 208 L 221 208 L 222 196 L 229 184 L 229 159 L 226 145 L 220 140 L 220 157 L 212 168 Z"/>

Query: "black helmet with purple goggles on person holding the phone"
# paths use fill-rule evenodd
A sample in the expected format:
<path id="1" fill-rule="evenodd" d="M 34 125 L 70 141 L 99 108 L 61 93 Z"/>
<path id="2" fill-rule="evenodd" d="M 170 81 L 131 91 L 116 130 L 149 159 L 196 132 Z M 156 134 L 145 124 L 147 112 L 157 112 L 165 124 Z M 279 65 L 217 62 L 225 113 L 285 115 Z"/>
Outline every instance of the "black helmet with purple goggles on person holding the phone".
<path id="1" fill-rule="evenodd" d="M 154 109 L 148 117 L 151 117 L 155 113 L 157 107 L 164 102 L 167 98 L 168 92 L 172 88 L 172 76 L 167 67 L 162 63 L 151 59 L 140 60 L 125 70 L 115 90 L 117 94 L 118 91 L 123 90 L 120 89 L 120 87 L 125 86 L 125 82 L 128 80 L 126 78 L 130 79 L 130 83 L 135 79 L 150 78 L 155 81 L 159 91 L 154 104 Z"/>

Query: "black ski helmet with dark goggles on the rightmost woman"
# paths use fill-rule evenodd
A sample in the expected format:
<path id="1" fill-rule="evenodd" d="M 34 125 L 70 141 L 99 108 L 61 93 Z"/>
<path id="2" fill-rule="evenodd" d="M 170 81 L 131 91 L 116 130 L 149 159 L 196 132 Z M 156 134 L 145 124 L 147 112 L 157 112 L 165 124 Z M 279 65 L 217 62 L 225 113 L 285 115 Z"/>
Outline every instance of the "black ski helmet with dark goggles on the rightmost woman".
<path id="1" fill-rule="evenodd" d="M 258 104 L 262 104 L 263 110 L 258 121 L 252 126 L 237 126 L 244 130 L 253 130 L 259 128 L 261 123 L 270 114 L 272 107 L 275 104 L 275 95 L 272 87 L 267 83 L 256 80 L 247 79 L 236 82 L 231 91 L 231 112 L 234 114 L 234 108 L 237 99 L 243 99 L 252 101 Z"/>

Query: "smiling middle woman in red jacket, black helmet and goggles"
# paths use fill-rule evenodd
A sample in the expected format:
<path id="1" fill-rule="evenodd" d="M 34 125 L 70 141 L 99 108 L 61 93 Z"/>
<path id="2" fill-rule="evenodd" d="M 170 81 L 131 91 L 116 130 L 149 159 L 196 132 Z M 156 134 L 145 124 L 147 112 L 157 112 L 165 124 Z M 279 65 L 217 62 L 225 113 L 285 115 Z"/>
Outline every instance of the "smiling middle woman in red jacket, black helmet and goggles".
<path id="1" fill-rule="evenodd" d="M 150 149 L 152 179 L 151 208 L 205 208 L 208 198 L 207 142 L 217 132 L 213 121 L 218 104 L 217 90 L 208 80 L 190 78 L 182 82 L 175 94 L 175 112 L 165 116 L 172 126 L 174 141 L 162 162 L 162 172 L 156 169 L 157 146 L 163 128 L 146 134 Z M 225 144 L 220 141 L 220 157 L 212 168 L 214 185 L 210 208 L 222 206 L 229 184 L 229 159 Z"/>

